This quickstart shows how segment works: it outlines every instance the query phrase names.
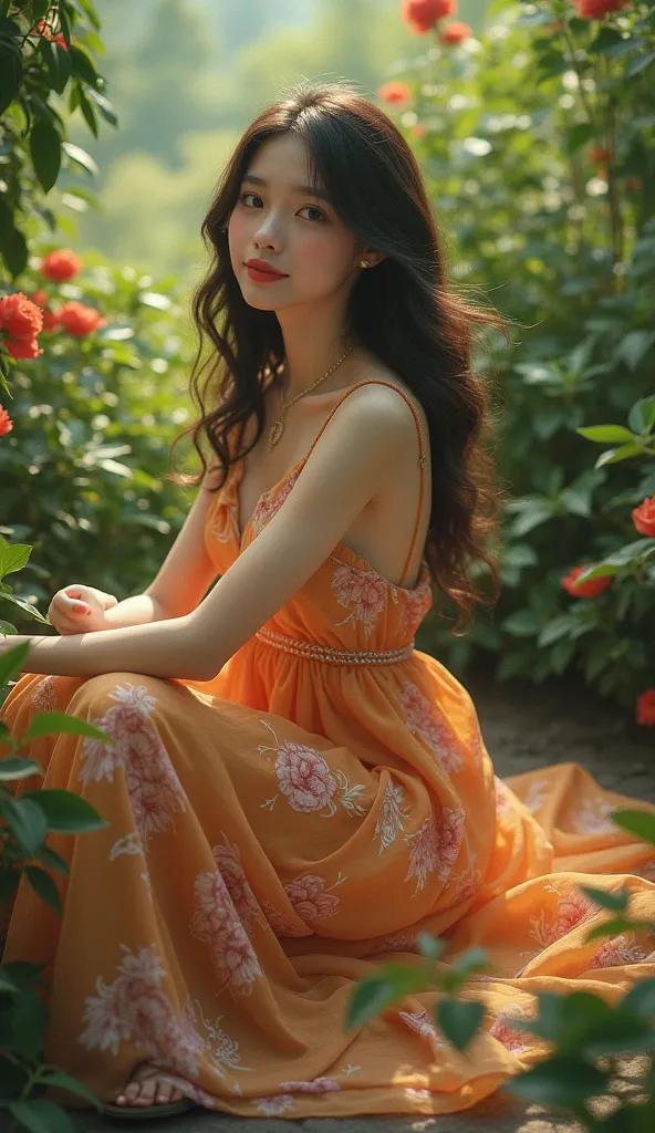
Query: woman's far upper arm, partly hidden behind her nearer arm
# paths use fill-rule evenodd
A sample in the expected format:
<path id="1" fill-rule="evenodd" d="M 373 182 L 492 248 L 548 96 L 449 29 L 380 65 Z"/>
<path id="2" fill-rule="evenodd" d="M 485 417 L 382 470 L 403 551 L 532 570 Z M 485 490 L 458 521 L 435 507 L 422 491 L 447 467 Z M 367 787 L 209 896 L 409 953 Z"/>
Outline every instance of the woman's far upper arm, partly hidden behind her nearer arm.
<path id="1" fill-rule="evenodd" d="M 169 617 L 196 608 L 219 573 L 205 546 L 205 523 L 214 494 L 206 492 L 209 474 L 156 577 L 144 590 L 163 606 Z"/>

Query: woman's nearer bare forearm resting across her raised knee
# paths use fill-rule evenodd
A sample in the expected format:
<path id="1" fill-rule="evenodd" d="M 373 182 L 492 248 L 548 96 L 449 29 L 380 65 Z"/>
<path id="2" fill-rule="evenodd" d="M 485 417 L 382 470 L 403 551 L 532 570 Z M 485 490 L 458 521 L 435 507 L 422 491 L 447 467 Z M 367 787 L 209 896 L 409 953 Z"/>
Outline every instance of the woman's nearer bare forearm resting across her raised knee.
<path id="1" fill-rule="evenodd" d="M 26 637 L 20 638 L 25 640 Z M 29 651 L 22 671 L 62 676 L 129 672 L 188 681 L 207 679 L 198 666 L 197 642 L 189 630 L 188 615 L 67 637 L 29 634 Z"/>

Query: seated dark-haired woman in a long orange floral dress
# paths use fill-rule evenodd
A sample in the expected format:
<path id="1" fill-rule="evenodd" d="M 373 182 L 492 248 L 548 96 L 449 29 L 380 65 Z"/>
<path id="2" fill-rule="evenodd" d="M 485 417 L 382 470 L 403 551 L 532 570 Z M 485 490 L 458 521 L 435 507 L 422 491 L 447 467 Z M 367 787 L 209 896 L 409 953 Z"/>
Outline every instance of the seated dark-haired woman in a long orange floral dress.
<path id="1" fill-rule="evenodd" d="M 452 293 L 409 147 L 347 85 L 258 114 L 203 232 L 201 491 L 143 595 L 67 587 L 60 636 L 18 639 L 10 732 L 58 708 L 114 746 L 31 746 L 108 826 L 52 836 L 63 915 L 23 885 L 5 959 L 46 964 L 48 1057 L 114 1115 L 465 1109 L 543 1053 L 511 1025 L 535 983 L 613 999 L 645 959 L 585 943 L 585 875 L 655 914 L 648 847 L 606 817 L 626 800 L 573 765 L 496 780 L 469 695 L 414 648 L 433 586 L 460 623 L 480 564 L 497 591 L 470 356 L 503 324 Z M 488 949 L 468 1057 L 434 991 L 344 1028 L 422 930 Z"/>

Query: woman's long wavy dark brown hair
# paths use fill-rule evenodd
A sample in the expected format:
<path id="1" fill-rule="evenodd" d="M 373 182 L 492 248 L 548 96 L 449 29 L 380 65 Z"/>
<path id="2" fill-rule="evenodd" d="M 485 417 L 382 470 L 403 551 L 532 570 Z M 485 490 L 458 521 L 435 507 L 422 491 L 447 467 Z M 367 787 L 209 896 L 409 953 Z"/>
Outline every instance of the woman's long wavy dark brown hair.
<path id="1" fill-rule="evenodd" d="M 227 229 L 257 148 L 288 133 L 306 143 L 312 184 L 322 181 L 344 225 L 385 253 L 352 287 L 346 333 L 397 374 L 425 411 L 433 477 L 425 557 L 433 583 L 458 610 L 449 632 L 461 636 L 474 604 L 495 602 L 500 593 L 502 492 L 491 451 L 490 385 L 473 369 L 474 332 L 486 324 L 508 341 L 509 335 L 495 308 L 465 301 L 449 283 L 416 159 L 391 119 L 352 84 L 291 87 L 255 117 L 228 162 L 203 221 L 211 262 L 192 300 L 198 346 L 190 395 L 199 418 L 171 446 L 172 461 L 175 446 L 192 434 L 202 471 L 167 478 L 197 486 L 207 471 L 207 450 L 221 474 L 207 491 L 220 491 L 230 463 L 247 455 L 263 433 L 263 377 L 283 363 L 284 343 L 275 313 L 244 299 Z M 235 452 L 229 440 L 235 432 L 241 441 L 253 415 L 255 440 L 246 452 Z"/>

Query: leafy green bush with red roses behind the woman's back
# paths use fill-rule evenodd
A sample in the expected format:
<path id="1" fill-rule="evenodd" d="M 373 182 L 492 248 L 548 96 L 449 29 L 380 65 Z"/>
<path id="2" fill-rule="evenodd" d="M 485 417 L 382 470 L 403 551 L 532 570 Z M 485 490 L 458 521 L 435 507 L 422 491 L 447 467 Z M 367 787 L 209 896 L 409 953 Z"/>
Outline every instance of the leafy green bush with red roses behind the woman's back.
<path id="1" fill-rule="evenodd" d="M 485 33 L 453 51 L 444 20 L 456 10 L 399 7 L 419 53 L 394 68 L 405 97 L 378 94 L 453 233 L 450 279 L 482 282 L 525 330 L 511 350 L 499 338 L 475 360 L 493 363 L 512 496 L 503 596 L 467 638 L 428 621 L 419 647 L 456 672 L 495 658 L 502 680 L 575 671 L 648 724 L 638 704 L 655 685 L 650 529 L 637 527 L 648 543 L 629 548 L 655 493 L 655 25 L 615 0 L 496 0 Z M 592 467 L 577 431 L 626 416 L 613 426 L 626 449 Z M 612 555 L 614 573 L 590 579 Z"/>

